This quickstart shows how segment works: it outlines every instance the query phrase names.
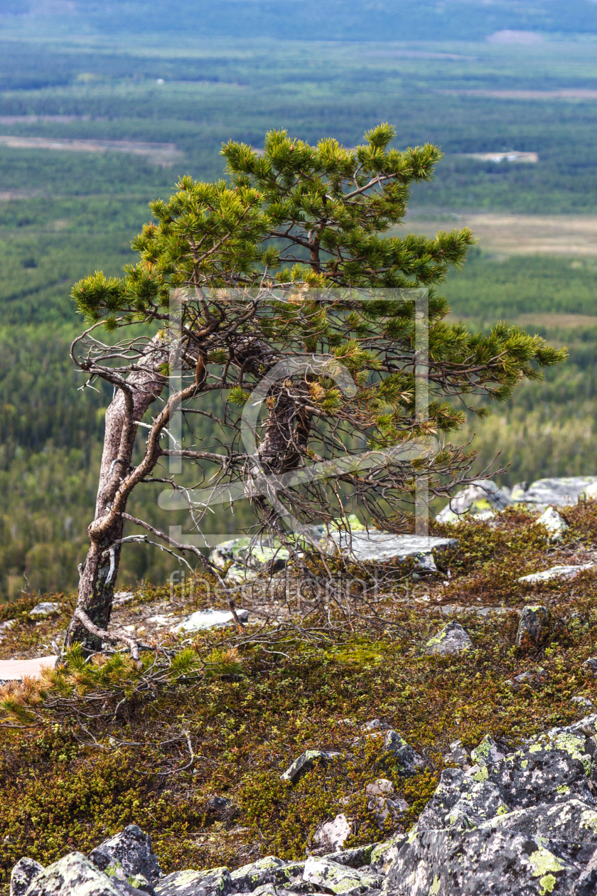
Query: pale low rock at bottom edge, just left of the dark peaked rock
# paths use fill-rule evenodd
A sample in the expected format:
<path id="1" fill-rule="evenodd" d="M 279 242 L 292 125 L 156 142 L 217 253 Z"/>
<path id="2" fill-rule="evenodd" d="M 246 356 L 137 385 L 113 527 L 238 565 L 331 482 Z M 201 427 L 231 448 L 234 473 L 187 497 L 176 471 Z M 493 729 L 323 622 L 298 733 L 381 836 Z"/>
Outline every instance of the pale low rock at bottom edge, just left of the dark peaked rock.
<path id="1" fill-rule="evenodd" d="M 130 883 L 99 871 L 81 852 L 70 852 L 48 865 L 26 892 L 27 896 L 141 896 Z"/>

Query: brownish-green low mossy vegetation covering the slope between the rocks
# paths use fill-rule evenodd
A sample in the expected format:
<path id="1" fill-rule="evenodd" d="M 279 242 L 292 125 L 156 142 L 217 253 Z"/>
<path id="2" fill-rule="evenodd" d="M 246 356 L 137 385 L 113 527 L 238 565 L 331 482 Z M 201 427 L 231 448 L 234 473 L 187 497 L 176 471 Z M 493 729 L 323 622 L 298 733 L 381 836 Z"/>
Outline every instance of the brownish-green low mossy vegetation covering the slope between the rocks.
<path id="1" fill-rule="evenodd" d="M 569 529 L 557 545 L 532 517 L 511 510 L 495 523 L 437 528 L 456 536 L 457 547 L 438 556 L 437 575 L 403 579 L 381 596 L 385 627 L 354 619 L 329 629 L 323 616 L 312 616 L 307 633 L 286 625 L 265 641 L 252 625 L 186 642 L 168 634 L 158 639 L 167 652 L 144 652 L 141 670 L 125 653 L 84 662 L 75 652 L 62 670 L 4 688 L 2 892 L 22 855 L 47 864 L 72 849 L 88 851 L 129 823 L 151 834 L 165 871 L 234 867 L 271 853 L 303 857 L 317 826 L 340 812 L 352 819 L 352 844 L 383 840 L 397 823 L 377 828 L 367 783 L 394 781 L 409 806 L 407 826 L 431 796 L 450 741 L 471 747 L 489 732 L 512 743 L 577 718 L 571 697 L 597 695 L 597 679 L 583 667 L 597 638 L 597 569 L 516 581 L 593 560 L 597 503 L 563 515 Z M 0 621 L 16 620 L 2 632 L 0 659 L 53 652 L 73 597 L 49 596 L 61 614 L 35 622 L 29 610 L 38 599 L 0 606 Z M 516 610 L 537 603 L 549 608 L 542 640 L 516 647 Z M 114 624 L 142 627 L 168 607 L 181 615 L 207 605 L 200 590 L 185 599 L 179 589 L 170 600 L 146 585 Z M 473 650 L 426 655 L 425 643 L 455 611 Z M 514 690 L 512 679 L 525 671 L 536 675 L 533 684 Z M 396 728 L 428 769 L 401 779 L 381 740 L 356 728 L 373 718 Z M 283 783 L 281 772 L 311 748 L 342 757 L 294 786 Z M 210 808 L 214 796 L 230 802 Z"/>

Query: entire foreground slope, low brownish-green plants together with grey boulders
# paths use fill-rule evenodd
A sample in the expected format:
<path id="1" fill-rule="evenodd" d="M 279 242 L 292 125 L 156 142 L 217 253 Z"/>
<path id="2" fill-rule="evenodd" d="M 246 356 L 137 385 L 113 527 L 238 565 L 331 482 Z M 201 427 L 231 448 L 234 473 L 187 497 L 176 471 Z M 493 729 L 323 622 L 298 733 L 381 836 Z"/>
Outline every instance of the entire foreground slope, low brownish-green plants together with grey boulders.
<path id="1" fill-rule="evenodd" d="M 141 670 L 71 655 L 0 692 L 4 892 L 21 857 L 30 896 L 596 892 L 597 504 L 557 512 L 436 523 L 437 572 L 349 623 L 245 590 L 242 632 L 173 632 L 225 602 L 122 595 Z M 71 607 L 0 607 L 0 659 L 54 653 Z M 106 876 L 98 844 L 130 825 L 155 873 Z"/>

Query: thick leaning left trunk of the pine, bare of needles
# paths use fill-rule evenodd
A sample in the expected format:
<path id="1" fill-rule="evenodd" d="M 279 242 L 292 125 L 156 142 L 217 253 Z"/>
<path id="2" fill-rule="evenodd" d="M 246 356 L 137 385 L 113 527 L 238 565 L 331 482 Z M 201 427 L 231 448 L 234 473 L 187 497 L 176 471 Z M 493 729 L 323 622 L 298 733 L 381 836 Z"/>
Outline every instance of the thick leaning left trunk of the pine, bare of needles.
<path id="1" fill-rule="evenodd" d="M 167 352 L 163 349 L 161 337 L 154 337 L 153 352 L 149 354 L 153 371 L 134 372 L 129 375 L 127 383 L 132 388 L 132 418 L 139 421 L 152 401 L 162 392 L 166 377 L 158 373 L 158 366 L 167 360 Z M 156 348 L 161 350 L 156 350 Z M 120 482 L 131 469 L 132 451 L 138 426 L 132 426 L 127 433 L 126 397 L 122 389 L 118 389 L 114 399 L 106 411 L 106 433 L 104 435 L 104 451 L 102 453 L 99 473 L 98 495 L 94 521 L 105 516 L 112 504 Z M 77 607 L 90 617 L 98 628 L 107 629 L 110 622 L 114 586 L 118 574 L 121 546 L 115 541 L 123 537 L 124 520 L 117 517 L 112 526 L 102 530 L 101 534 L 90 532 L 90 548 L 85 562 L 80 567 L 79 593 Z M 101 650 L 101 642 L 81 624 L 72 618 L 66 633 L 66 647 L 80 642 L 85 652 Z"/>

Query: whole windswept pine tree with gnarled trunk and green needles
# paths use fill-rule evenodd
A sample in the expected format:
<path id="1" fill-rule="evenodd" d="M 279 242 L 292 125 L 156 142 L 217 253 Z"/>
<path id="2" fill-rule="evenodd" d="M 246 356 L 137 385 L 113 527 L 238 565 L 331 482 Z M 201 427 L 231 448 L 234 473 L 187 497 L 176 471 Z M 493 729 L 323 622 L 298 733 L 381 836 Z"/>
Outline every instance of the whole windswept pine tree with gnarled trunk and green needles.
<path id="1" fill-rule="evenodd" d="M 262 152 L 229 142 L 227 180 L 183 177 L 168 202 L 151 203 L 155 222 L 133 242 L 140 260 L 122 279 L 96 272 L 74 286 L 88 325 L 72 358 L 115 397 L 68 645 L 118 640 L 107 626 L 126 521 L 217 574 L 197 548 L 126 512 L 134 489 L 164 482 L 198 527 L 206 504 L 244 495 L 260 530 L 312 575 L 300 556 L 316 550 L 309 526 L 342 515 L 346 496 L 380 527 L 405 531 L 421 478 L 431 495 L 470 481 L 473 452 L 445 444 L 465 420 L 450 399 L 504 401 L 565 357 L 506 323 L 488 335 L 446 323 L 436 288 L 465 262 L 473 235 L 395 234 L 411 186 L 441 158 L 431 145 L 392 149 L 395 137 L 380 125 L 355 149 L 284 131 L 270 132 Z M 103 342 L 102 328 L 119 340 Z M 182 440 L 169 431 L 178 411 Z M 202 442 L 192 425 L 201 418 L 213 426 Z M 141 421 L 147 439 L 133 464 Z M 412 444 L 427 447 L 409 454 Z M 180 486 L 173 458 L 196 465 L 199 489 Z"/>

